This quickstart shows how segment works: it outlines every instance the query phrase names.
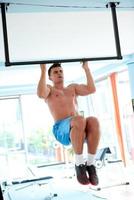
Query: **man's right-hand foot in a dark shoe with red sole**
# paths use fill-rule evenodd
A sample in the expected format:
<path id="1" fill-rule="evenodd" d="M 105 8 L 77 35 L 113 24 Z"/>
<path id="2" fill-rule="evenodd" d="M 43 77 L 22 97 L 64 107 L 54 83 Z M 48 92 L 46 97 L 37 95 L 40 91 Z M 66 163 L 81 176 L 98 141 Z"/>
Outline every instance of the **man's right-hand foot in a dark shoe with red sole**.
<path id="1" fill-rule="evenodd" d="M 96 169 L 94 165 L 86 166 L 88 175 L 89 175 L 89 181 L 92 185 L 98 185 L 99 179 L 96 173 Z"/>

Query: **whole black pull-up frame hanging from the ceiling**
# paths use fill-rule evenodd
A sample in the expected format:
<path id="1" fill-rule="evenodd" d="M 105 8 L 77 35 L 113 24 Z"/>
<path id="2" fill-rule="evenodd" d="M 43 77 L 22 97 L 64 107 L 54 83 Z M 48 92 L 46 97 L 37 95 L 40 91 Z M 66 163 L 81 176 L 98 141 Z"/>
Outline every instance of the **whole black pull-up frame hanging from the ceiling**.
<path id="1" fill-rule="evenodd" d="M 110 3 L 108 3 L 106 5 L 107 8 L 108 7 L 111 8 L 111 12 L 112 12 L 112 21 L 113 21 L 113 29 L 114 29 L 114 37 L 115 37 L 116 56 L 12 62 L 12 61 L 10 61 L 8 33 L 7 33 L 7 20 L 6 20 L 6 6 L 7 6 L 7 4 L 6 3 L 0 3 L 1 16 L 2 16 L 2 27 L 3 27 L 3 39 L 4 39 L 5 66 L 33 65 L 33 64 L 43 64 L 43 63 L 50 64 L 50 63 L 55 63 L 55 62 L 68 63 L 68 62 L 81 62 L 81 61 L 98 61 L 98 60 L 122 59 L 121 48 L 120 48 L 120 39 L 119 39 L 119 31 L 118 31 L 118 23 L 117 23 L 117 16 L 116 16 L 116 4 L 119 4 L 119 3 L 110 2 Z"/>

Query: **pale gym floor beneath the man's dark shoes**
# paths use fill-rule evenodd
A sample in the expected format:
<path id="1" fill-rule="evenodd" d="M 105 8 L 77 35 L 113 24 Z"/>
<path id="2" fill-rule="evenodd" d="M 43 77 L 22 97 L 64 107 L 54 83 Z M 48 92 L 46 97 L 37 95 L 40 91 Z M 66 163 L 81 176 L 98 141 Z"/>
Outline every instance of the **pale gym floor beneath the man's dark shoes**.
<path id="1" fill-rule="evenodd" d="M 107 164 L 98 169 L 98 186 L 80 185 L 75 177 L 74 165 L 33 168 L 34 177 L 53 176 L 53 179 L 8 186 L 5 200 L 132 200 L 134 199 L 134 164 L 124 167 L 123 163 Z"/>

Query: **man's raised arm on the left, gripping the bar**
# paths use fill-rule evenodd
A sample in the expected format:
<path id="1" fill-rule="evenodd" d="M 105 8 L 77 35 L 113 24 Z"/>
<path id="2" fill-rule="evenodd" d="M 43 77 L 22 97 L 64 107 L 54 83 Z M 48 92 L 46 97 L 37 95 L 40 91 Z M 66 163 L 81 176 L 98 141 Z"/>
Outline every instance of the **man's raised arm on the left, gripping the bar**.
<path id="1" fill-rule="evenodd" d="M 37 87 L 37 95 L 40 98 L 47 99 L 50 94 L 50 88 L 46 84 L 46 64 L 41 64 L 41 76 Z"/>

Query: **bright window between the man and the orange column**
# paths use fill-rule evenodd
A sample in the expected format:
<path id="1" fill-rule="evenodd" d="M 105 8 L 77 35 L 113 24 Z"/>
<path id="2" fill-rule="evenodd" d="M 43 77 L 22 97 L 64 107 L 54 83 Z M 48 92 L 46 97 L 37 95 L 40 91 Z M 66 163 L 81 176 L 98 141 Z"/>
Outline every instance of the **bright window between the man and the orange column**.
<path id="1" fill-rule="evenodd" d="M 90 115 L 95 115 L 99 119 L 101 130 L 99 148 L 110 147 L 113 157 L 118 158 L 120 155 L 109 79 L 96 82 L 96 89 L 96 93 L 89 96 L 89 111 Z"/>

